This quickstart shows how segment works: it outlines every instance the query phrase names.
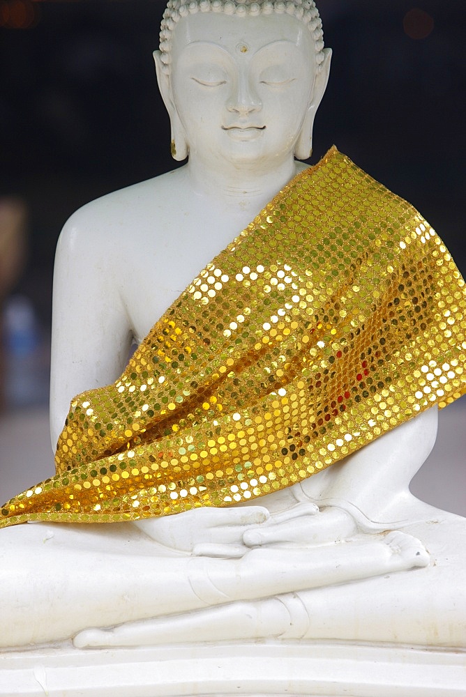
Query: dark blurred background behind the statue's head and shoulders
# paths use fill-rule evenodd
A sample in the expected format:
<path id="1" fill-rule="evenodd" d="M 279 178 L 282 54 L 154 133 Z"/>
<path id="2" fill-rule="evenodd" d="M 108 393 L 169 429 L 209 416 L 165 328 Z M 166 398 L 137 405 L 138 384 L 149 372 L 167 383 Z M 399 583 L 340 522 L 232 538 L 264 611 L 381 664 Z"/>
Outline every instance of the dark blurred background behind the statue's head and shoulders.
<path id="1" fill-rule="evenodd" d="M 0 198 L 29 206 L 15 291 L 45 327 L 66 218 L 175 166 L 151 57 L 164 5 L 0 0 Z M 318 5 L 333 65 L 312 161 L 335 143 L 419 208 L 465 273 L 465 3 Z"/>

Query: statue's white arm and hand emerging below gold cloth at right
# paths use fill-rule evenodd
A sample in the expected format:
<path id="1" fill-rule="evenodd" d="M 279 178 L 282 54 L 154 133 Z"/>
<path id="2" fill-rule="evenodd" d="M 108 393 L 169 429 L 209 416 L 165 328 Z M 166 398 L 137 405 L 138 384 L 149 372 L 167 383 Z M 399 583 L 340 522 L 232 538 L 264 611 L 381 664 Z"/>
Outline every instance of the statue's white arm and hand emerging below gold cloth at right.
<path id="1" fill-rule="evenodd" d="M 357 530 L 383 530 L 419 515 L 409 482 L 428 457 L 437 434 L 437 407 L 377 438 L 337 464 L 294 484 L 296 503 L 243 533 L 246 546 L 313 546 L 350 539 Z M 273 494 L 271 496 L 274 496 Z M 268 506 L 265 496 L 260 503 Z M 318 505 L 310 514 L 306 500 Z M 382 526 L 382 527 L 381 527 Z M 207 546 L 208 548 L 209 546 Z M 205 552 L 208 553 L 208 552 Z"/>

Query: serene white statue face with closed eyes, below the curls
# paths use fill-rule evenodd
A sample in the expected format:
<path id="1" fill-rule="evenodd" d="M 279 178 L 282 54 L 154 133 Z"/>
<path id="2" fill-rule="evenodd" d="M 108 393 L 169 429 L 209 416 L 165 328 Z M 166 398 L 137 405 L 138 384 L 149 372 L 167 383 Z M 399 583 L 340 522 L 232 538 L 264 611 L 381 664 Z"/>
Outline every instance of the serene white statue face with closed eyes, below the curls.
<path id="1" fill-rule="evenodd" d="M 172 40 L 172 100 L 190 153 L 239 165 L 292 153 L 315 70 L 313 38 L 290 15 L 183 18 Z"/>

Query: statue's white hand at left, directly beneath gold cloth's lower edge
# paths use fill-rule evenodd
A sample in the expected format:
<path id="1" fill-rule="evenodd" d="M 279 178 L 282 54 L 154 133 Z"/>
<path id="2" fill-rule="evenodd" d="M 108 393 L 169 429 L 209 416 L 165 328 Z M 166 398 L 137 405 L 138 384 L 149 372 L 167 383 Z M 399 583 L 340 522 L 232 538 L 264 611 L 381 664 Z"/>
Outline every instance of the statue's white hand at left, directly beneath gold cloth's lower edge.
<path id="1" fill-rule="evenodd" d="M 156 542 L 196 555 L 239 557 L 247 551 L 242 544 L 246 530 L 269 519 L 262 506 L 244 508 L 198 508 L 172 516 L 149 518 L 134 524 Z"/>

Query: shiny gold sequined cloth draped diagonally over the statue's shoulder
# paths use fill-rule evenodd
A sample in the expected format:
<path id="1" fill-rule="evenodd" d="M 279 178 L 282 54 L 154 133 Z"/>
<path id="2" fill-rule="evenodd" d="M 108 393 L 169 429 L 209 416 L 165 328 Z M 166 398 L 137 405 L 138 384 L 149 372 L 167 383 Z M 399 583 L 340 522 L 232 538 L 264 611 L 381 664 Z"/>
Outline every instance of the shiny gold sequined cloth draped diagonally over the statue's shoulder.
<path id="1" fill-rule="evenodd" d="M 442 240 L 332 148 L 202 270 L 114 385 L 73 400 L 57 475 L 4 505 L 0 525 L 124 521 L 288 487 L 460 397 L 465 328 Z"/>

